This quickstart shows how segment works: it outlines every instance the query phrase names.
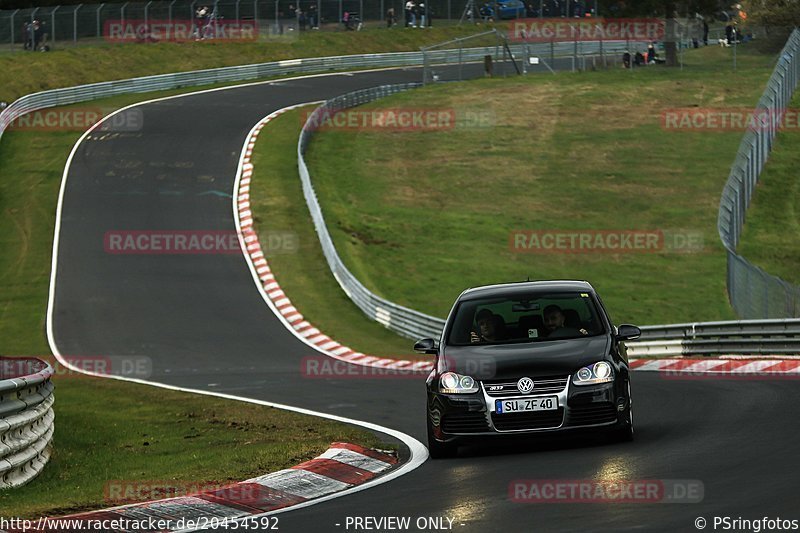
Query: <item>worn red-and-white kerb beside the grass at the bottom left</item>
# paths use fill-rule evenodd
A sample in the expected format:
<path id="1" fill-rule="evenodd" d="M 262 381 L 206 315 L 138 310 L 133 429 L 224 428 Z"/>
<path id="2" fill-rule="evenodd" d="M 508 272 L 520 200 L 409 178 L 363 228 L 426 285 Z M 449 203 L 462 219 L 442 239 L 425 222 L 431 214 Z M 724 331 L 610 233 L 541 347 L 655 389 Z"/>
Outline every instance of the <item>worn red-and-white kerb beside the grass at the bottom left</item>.
<path id="1" fill-rule="evenodd" d="M 66 531 L 65 524 L 71 523 L 70 527 L 76 528 L 76 522 L 99 520 L 117 520 L 119 524 L 125 524 L 123 520 L 139 524 L 160 520 L 161 524 L 167 524 L 162 531 L 195 529 L 224 519 L 263 515 L 346 490 L 386 473 L 397 464 L 394 455 L 336 442 L 322 455 L 292 468 L 188 496 L 50 518 L 37 531 Z"/>

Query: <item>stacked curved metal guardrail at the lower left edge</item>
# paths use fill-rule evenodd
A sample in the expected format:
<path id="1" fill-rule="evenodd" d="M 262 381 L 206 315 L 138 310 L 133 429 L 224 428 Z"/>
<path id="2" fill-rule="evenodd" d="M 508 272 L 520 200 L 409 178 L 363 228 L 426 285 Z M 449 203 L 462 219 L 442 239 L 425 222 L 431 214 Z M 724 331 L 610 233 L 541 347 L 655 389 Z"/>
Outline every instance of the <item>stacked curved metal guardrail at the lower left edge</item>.
<path id="1" fill-rule="evenodd" d="M 0 489 L 29 482 L 50 459 L 52 375 L 39 359 L 0 359 Z"/>

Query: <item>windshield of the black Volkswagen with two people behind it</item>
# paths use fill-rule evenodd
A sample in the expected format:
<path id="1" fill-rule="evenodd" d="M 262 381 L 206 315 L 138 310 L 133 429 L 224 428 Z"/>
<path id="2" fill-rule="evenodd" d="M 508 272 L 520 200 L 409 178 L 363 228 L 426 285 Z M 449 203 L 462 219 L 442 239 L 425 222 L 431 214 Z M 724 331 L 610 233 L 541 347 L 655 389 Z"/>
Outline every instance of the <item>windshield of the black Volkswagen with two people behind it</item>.
<path id="1" fill-rule="evenodd" d="M 459 303 L 447 337 L 453 346 L 574 339 L 605 333 L 588 292 L 537 292 Z"/>

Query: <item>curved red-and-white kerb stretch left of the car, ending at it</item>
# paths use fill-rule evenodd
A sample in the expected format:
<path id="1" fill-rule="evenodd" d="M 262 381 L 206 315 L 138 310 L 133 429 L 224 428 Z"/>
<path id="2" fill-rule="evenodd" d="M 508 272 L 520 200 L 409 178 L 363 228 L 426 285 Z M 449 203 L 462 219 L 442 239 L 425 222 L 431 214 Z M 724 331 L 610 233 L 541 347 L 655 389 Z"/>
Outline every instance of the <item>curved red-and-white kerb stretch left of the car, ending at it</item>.
<path id="1" fill-rule="evenodd" d="M 258 134 L 271 120 L 287 111 L 306 105 L 309 104 L 306 103 L 286 107 L 264 117 L 253 127 L 245 140 L 242 164 L 240 165 L 240 171 L 233 194 L 234 214 L 235 218 L 238 220 L 239 234 L 241 235 L 242 249 L 245 251 L 245 258 L 252 265 L 259 280 L 259 288 L 278 318 L 281 319 L 289 331 L 315 350 L 334 359 L 356 365 L 396 369 L 406 372 L 430 372 L 431 368 L 433 368 L 430 361 L 410 361 L 365 355 L 331 339 L 303 318 L 303 315 L 292 305 L 292 302 L 283 292 L 269 267 L 269 263 L 264 256 L 264 250 L 262 250 L 258 242 L 258 235 L 253 228 L 253 212 L 250 208 L 250 182 L 253 177 L 253 164 L 251 162 L 253 148 L 255 147 Z"/>

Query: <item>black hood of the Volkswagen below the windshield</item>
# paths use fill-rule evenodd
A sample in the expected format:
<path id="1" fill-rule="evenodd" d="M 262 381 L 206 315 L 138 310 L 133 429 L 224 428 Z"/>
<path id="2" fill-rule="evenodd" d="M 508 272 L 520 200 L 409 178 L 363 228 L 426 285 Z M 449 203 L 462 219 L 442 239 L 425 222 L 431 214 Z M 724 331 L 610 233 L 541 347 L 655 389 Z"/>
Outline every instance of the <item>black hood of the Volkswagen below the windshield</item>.
<path id="1" fill-rule="evenodd" d="M 598 335 L 522 344 L 447 346 L 444 357 L 439 358 L 439 371 L 480 380 L 566 376 L 607 359 L 610 342 L 608 335 Z"/>

